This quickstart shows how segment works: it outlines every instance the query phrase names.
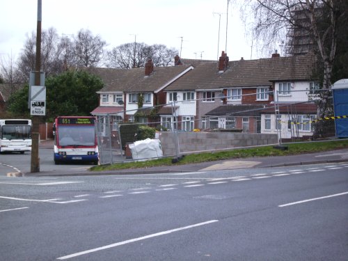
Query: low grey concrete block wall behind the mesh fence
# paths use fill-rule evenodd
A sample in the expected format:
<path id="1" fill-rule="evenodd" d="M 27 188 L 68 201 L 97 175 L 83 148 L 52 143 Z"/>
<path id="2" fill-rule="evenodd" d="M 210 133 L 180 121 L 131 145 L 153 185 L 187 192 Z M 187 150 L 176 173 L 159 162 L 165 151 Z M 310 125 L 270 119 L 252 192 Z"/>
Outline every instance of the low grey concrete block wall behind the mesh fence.
<path id="1" fill-rule="evenodd" d="M 165 156 L 175 155 L 175 133 L 161 132 L 159 135 Z M 246 134 L 229 132 L 177 132 L 179 152 L 224 150 L 256 145 L 277 144 L 276 134 Z"/>

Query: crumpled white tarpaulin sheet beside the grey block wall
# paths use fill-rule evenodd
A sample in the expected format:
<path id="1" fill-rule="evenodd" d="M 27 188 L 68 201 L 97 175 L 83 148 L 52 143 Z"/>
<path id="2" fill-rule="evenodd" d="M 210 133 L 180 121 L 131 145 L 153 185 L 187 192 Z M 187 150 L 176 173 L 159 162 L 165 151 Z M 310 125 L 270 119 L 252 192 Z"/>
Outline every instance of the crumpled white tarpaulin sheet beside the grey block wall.
<path id="1" fill-rule="evenodd" d="M 150 159 L 163 157 L 161 141 L 159 139 L 145 139 L 129 144 L 133 159 Z"/>

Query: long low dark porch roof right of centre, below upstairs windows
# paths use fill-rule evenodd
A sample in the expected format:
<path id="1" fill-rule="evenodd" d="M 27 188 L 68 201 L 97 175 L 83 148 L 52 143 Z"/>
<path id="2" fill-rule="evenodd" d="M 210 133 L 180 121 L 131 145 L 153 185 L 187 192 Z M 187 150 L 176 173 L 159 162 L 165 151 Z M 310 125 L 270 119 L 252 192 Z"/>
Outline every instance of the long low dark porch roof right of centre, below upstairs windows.
<path id="1" fill-rule="evenodd" d="M 260 116 L 266 105 L 222 105 L 208 113 L 206 116 Z M 273 109 L 274 110 L 274 109 Z"/>

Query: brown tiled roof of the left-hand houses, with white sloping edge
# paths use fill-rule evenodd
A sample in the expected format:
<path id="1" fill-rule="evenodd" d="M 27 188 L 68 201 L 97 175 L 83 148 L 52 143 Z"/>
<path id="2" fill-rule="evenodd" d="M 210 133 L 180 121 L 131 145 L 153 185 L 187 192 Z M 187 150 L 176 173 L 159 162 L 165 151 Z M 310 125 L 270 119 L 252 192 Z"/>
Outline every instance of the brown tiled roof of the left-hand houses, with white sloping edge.
<path id="1" fill-rule="evenodd" d="M 131 70 L 86 68 L 84 70 L 88 70 L 88 72 L 102 78 L 105 86 L 100 92 L 139 93 L 158 90 L 189 67 L 189 65 L 155 67 L 149 76 L 145 76 L 145 68 L 133 68 Z"/>

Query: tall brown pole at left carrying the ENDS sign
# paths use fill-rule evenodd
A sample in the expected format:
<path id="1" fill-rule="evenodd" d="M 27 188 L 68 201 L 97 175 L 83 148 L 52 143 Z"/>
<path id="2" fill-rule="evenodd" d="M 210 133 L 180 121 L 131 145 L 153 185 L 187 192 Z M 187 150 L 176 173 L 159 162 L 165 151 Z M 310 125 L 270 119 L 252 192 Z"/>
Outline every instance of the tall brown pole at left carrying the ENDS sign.
<path id="1" fill-rule="evenodd" d="M 38 23 L 36 26 L 36 56 L 35 56 L 35 86 L 40 86 L 41 70 L 41 21 L 42 0 L 38 0 Z M 29 95 L 31 95 L 29 93 Z M 31 173 L 40 172 L 39 158 L 39 125 L 40 116 L 33 116 L 33 129 L 31 130 Z"/>

